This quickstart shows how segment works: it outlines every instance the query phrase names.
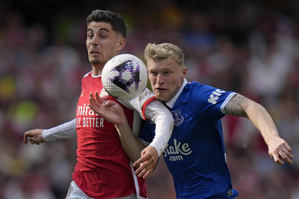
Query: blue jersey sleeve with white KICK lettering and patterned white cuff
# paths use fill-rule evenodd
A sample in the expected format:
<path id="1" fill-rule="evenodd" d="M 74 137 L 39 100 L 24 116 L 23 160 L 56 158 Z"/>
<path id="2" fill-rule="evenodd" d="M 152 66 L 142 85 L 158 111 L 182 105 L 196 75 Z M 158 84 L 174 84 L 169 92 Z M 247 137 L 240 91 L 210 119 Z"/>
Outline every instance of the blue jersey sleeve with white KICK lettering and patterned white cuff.
<path id="1" fill-rule="evenodd" d="M 199 84 L 192 87 L 189 99 L 193 109 L 202 117 L 218 120 L 225 116 L 224 107 L 235 94 Z"/>

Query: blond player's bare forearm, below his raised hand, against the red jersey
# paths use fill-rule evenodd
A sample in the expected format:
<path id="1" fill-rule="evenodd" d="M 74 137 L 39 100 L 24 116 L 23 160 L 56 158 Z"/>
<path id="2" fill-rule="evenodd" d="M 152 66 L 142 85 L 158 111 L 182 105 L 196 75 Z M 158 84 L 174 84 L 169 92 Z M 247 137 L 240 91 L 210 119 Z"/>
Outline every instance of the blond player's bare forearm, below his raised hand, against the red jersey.
<path id="1" fill-rule="evenodd" d="M 141 157 L 141 151 L 145 146 L 140 139 L 133 134 L 132 129 L 127 122 L 117 124 L 115 127 L 121 140 L 121 146 L 126 155 L 132 162 L 137 161 Z"/>

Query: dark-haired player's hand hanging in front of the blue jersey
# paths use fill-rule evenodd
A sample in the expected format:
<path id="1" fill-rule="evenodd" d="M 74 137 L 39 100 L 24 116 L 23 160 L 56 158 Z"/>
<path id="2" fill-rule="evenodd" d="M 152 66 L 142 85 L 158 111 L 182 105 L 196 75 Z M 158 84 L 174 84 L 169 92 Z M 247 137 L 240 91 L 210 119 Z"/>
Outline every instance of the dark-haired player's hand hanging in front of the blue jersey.
<path id="1" fill-rule="evenodd" d="M 155 169 L 158 161 L 158 151 L 153 146 L 148 146 L 141 151 L 141 158 L 134 162 L 133 167 L 140 164 L 140 167 L 135 171 L 139 174 L 138 177 L 145 179 Z"/>

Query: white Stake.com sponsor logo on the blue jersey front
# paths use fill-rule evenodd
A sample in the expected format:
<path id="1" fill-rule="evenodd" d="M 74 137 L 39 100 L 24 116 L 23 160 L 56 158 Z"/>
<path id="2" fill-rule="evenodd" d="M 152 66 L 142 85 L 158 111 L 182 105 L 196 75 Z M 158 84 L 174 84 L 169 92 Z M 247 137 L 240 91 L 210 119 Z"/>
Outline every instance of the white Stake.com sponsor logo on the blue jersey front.
<path id="1" fill-rule="evenodd" d="M 184 143 L 181 145 L 181 142 L 177 142 L 176 139 L 173 139 L 173 145 L 174 146 L 169 146 L 167 144 L 163 151 L 164 157 L 169 155 L 169 161 L 183 160 L 183 155 L 189 155 L 192 152 L 188 143 Z"/>

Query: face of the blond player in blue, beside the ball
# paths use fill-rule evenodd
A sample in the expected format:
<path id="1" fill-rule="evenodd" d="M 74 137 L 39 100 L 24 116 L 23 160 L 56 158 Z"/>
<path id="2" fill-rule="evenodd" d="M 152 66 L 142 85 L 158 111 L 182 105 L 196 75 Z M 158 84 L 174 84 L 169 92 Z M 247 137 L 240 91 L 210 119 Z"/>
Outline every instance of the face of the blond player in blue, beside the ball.
<path id="1" fill-rule="evenodd" d="M 168 102 L 180 90 L 187 75 L 187 68 L 181 67 L 172 58 L 155 62 L 147 60 L 147 69 L 157 99 Z"/>

